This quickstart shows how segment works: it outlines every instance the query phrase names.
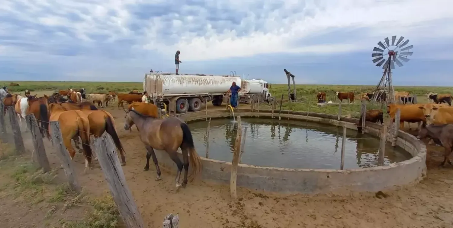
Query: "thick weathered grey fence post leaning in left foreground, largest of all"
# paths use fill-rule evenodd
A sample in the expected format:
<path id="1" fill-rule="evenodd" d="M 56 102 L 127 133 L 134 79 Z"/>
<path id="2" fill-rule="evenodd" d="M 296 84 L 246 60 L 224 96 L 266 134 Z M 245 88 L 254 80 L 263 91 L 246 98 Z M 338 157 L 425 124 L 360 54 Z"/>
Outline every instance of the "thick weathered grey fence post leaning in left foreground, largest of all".
<path id="1" fill-rule="evenodd" d="M 93 139 L 94 151 L 107 180 L 113 200 L 127 228 L 144 228 L 143 219 L 127 186 L 115 144 L 109 134 Z"/>

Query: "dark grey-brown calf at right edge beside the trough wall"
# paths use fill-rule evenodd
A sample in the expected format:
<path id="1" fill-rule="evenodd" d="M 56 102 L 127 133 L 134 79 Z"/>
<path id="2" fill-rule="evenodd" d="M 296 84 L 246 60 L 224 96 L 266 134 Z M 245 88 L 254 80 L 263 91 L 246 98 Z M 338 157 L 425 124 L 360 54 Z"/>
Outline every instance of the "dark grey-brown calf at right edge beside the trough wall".
<path id="1" fill-rule="evenodd" d="M 453 149 L 453 125 L 452 124 L 422 124 L 422 127 L 419 130 L 417 138 L 431 138 L 433 141 L 442 146 L 444 149 L 443 152 L 443 162 L 440 166 L 445 166 L 445 163 L 453 165 L 450 161 L 450 154 Z"/>

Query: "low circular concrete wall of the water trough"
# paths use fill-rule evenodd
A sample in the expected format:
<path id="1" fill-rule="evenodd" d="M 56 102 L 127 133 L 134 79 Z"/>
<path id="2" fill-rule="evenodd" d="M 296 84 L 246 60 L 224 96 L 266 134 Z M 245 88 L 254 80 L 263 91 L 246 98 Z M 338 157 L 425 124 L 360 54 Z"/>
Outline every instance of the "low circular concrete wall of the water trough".
<path id="1" fill-rule="evenodd" d="M 235 115 L 246 117 L 270 117 L 270 109 L 257 110 L 238 109 Z M 228 110 L 208 110 L 191 112 L 178 115 L 186 122 L 205 120 L 206 118 L 229 118 Z M 278 112 L 274 118 L 278 119 Z M 357 130 L 357 119 L 341 117 L 337 115 L 284 111 L 282 119 L 308 120 L 318 123 L 326 123 L 334 126 L 346 126 Z M 371 135 L 380 136 L 382 125 L 377 123 L 366 123 L 365 132 Z M 195 142 L 197 143 L 197 142 Z M 388 190 L 396 186 L 409 185 L 419 182 L 426 175 L 426 147 L 416 137 L 400 131 L 397 139 L 397 146 L 402 147 L 413 157 L 406 161 L 391 163 L 388 166 L 377 166 L 359 169 L 289 169 L 278 167 L 263 167 L 239 164 L 237 170 L 237 185 L 255 190 L 264 190 L 281 193 L 335 193 L 347 194 L 350 192 L 375 192 Z M 202 152 L 204 153 L 204 152 Z M 174 162 L 165 152 L 156 152 L 159 163 L 168 167 L 176 168 Z M 179 154 L 182 158 L 182 155 Z M 202 159 L 202 179 L 230 183 L 231 161 L 218 161 Z"/>

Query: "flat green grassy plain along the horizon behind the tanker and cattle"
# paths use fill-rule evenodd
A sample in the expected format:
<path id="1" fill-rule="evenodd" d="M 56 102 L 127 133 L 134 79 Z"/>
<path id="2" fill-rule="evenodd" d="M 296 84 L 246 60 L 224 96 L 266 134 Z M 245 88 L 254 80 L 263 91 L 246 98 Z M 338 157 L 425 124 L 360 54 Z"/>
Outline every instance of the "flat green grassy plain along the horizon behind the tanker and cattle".
<path id="1" fill-rule="evenodd" d="M 10 83 L 18 83 L 19 86 L 9 86 Z M 25 89 L 37 91 L 43 90 L 66 90 L 67 88 L 85 88 L 87 93 L 90 92 L 106 92 L 106 91 L 117 91 L 125 92 L 130 90 L 143 90 L 142 82 L 83 82 L 83 81 L 0 81 L 0 85 L 7 85 L 12 92 L 22 92 Z M 327 94 L 327 99 L 333 102 L 338 102 L 335 92 L 336 91 L 355 91 L 356 92 L 356 104 L 342 105 L 343 115 L 350 115 L 351 117 L 358 117 L 360 114 L 360 100 L 358 95 L 361 92 L 371 92 L 376 88 L 374 85 L 296 85 L 297 90 L 297 103 L 288 102 L 288 90 L 285 84 L 272 84 L 270 92 L 272 96 L 280 103 L 281 95 L 283 97 L 282 110 L 295 110 L 295 111 L 310 111 L 319 112 L 326 114 L 337 114 L 338 105 L 326 105 L 323 108 L 319 108 L 316 105 L 316 94 L 319 91 L 323 91 Z M 436 92 L 439 94 L 453 93 L 453 87 L 434 87 L 434 86 L 395 86 L 395 90 L 398 91 L 409 91 L 411 94 L 417 95 L 419 103 L 425 103 L 426 98 L 424 94 L 426 92 Z M 266 104 L 262 104 L 260 108 L 266 107 Z M 279 108 L 279 107 L 277 107 Z M 367 104 L 367 109 L 386 109 L 381 105 Z"/>

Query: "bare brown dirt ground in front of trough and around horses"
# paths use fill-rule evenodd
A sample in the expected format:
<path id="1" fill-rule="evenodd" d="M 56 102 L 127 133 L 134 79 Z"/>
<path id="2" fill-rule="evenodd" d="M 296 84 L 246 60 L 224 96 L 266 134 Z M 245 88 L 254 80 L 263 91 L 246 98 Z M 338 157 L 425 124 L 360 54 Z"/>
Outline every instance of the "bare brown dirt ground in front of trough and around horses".
<path id="1" fill-rule="evenodd" d="M 224 107 L 223 107 L 224 108 Z M 136 128 L 129 133 L 123 128 L 124 111 L 106 108 L 114 115 L 119 136 L 126 151 L 123 167 L 147 227 L 161 227 L 165 215 L 178 213 L 180 228 L 449 228 L 453 227 L 453 168 L 438 167 L 443 160 L 440 147 L 428 146 L 427 176 L 419 184 L 386 191 L 385 197 L 375 193 L 351 195 L 281 195 L 238 189 L 233 202 L 229 186 L 205 181 L 189 183 L 187 188 L 174 187 L 175 170 L 161 166 L 162 180 L 155 181 L 155 169 L 143 171 L 145 148 Z M 196 143 L 196 142 L 195 142 Z M 59 166 L 58 158 L 45 142 L 51 166 Z M 33 148 L 27 141 L 26 147 Z M 96 161 L 84 175 L 84 159 L 77 153 L 78 179 L 87 194 L 100 196 L 108 190 Z M 64 178 L 63 170 L 58 175 Z M 0 183 L 4 175 L 0 175 Z M 4 178 L 3 178 L 4 179 Z M 40 222 L 49 209 L 45 204 L 29 206 L 18 200 L 1 197 L 2 227 L 47 227 Z M 59 217 L 79 218 L 83 209 Z M 19 225 L 20 224 L 20 225 Z"/>

